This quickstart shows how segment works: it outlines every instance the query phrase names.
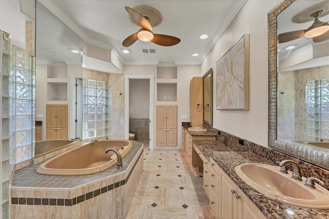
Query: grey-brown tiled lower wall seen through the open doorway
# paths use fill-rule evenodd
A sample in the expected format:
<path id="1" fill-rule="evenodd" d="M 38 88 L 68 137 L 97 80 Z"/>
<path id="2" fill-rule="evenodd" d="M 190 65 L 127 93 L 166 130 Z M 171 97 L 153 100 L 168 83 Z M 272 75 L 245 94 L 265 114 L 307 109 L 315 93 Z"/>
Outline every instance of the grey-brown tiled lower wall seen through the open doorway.
<path id="1" fill-rule="evenodd" d="M 148 139 L 150 136 L 150 119 L 129 118 L 129 132 L 137 132 L 135 140 Z"/>

